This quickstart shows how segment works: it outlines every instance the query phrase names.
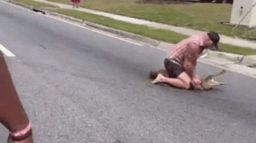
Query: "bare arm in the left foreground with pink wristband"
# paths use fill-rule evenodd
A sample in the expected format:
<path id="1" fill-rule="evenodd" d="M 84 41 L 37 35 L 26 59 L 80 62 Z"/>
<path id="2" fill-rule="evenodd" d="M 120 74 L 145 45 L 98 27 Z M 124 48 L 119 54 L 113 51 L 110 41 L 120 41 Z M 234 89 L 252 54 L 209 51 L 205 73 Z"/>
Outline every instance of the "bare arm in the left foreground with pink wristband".
<path id="1" fill-rule="evenodd" d="M 1 53 L 0 51 L 0 122 L 10 132 L 17 133 L 29 125 L 29 120 L 19 100 L 8 67 Z M 32 129 L 30 128 L 29 132 L 26 132 L 25 136 L 22 137 L 27 138 L 24 140 L 25 142 L 21 143 L 33 143 Z M 9 143 L 20 143 L 12 142 L 12 139 L 8 140 Z"/>

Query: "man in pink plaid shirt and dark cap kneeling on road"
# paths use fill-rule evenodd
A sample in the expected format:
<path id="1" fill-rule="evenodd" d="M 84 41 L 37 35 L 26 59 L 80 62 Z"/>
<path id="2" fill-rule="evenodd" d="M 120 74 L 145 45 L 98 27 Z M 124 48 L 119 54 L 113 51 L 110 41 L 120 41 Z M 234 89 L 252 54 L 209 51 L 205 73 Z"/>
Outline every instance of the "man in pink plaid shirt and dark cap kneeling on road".
<path id="1" fill-rule="evenodd" d="M 194 75 L 196 61 L 203 49 L 211 46 L 218 49 L 219 40 L 218 33 L 213 31 L 182 40 L 169 51 L 168 57 L 164 60 L 169 78 L 159 73 L 152 84 L 164 82 L 184 89 L 190 89 L 192 84 L 194 88 L 202 89 L 201 77 Z"/>

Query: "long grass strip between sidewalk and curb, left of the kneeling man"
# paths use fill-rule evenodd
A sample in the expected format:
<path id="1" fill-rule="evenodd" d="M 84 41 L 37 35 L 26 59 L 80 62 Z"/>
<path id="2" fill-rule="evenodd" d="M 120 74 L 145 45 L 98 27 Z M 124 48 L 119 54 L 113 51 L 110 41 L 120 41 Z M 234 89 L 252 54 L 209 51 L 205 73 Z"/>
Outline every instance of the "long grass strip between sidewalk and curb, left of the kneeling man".
<path id="1" fill-rule="evenodd" d="M 188 38 L 187 35 L 175 33 L 173 31 L 165 31 L 161 29 L 154 29 L 147 26 L 130 24 L 130 23 L 118 21 L 112 18 L 108 18 L 100 15 L 94 15 L 90 13 L 84 13 L 84 12 L 75 11 L 75 10 L 58 9 L 57 12 L 64 15 L 79 18 L 85 21 L 94 22 L 107 27 L 112 27 L 122 31 L 127 31 L 127 32 L 144 36 L 144 37 L 150 37 L 156 40 L 161 40 L 164 42 L 169 42 L 174 44 L 178 43 L 184 38 Z"/>

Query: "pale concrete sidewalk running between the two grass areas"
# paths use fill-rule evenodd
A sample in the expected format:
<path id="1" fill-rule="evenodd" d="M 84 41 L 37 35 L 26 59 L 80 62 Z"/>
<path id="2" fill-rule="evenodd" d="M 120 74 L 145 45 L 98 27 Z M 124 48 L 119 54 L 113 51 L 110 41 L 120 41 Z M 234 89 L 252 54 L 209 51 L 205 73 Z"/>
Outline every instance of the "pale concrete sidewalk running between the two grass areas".
<path id="1" fill-rule="evenodd" d="M 56 3 L 56 2 L 49 2 L 46 0 L 34 0 L 34 1 L 44 2 L 46 4 L 58 6 L 63 9 L 73 9 L 73 10 L 82 11 L 82 12 L 86 12 L 86 13 L 92 13 L 95 15 L 101 15 L 101 16 L 113 18 L 115 20 L 129 22 L 132 24 L 145 25 L 148 27 L 156 28 L 156 29 L 170 30 L 170 31 L 174 31 L 174 32 L 181 33 L 181 34 L 188 35 L 188 36 L 192 36 L 192 35 L 204 32 L 204 31 L 189 29 L 186 27 L 171 26 L 171 25 L 167 25 L 167 24 L 160 24 L 160 23 L 156 23 L 156 22 L 151 22 L 151 21 L 137 19 L 137 18 L 131 18 L 131 17 L 127 17 L 127 16 L 120 16 L 120 15 L 115 15 L 115 14 L 111 14 L 111 13 L 100 12 L 100 11 L 86 9 L 86 8 L 82 8 L 82 7 L 73 8 L 73 6 L 71 6 L 71 5 L 61 4 L 61 3 Z M 220 35 L 220 42 L 224 43 L 224 44 L 233 45 L 233 46 L 240 46 L 240 47 L 256 49 L 256 41 L 249 41 L 249 40 L 244 40 L 244 39 L 240 39 L 240 38 L 232 38 L 232 37 L 228 37 L 225 35 Z"/>

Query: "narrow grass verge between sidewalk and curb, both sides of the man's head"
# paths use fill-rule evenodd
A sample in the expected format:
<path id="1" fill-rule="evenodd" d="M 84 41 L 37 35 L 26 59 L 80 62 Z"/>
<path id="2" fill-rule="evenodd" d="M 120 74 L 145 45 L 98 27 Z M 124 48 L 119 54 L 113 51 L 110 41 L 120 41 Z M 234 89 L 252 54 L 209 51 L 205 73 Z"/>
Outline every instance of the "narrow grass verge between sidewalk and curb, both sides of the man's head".
<path id="1" fill-rule="evenodd" d="M 85 21 L 94 22 L 107 27 L 128 31 L 131 33 L 136 33 L 141 36 L 150 37 L 156 40 L 169 42 L 173 44 L 176 44 L 177 42 L 180 42 L 184 38 L 188 37 L 187 35 L 182 35 L 172 31 L 152 29 L 147 26 L 130 24 L 130 23 L 118 21 L 112 18 L 108 18 L 100 15 L 94 15 L 90 13 L 84 13 L 84 12 L 75 11 L 75 10 L 58 9 L 57 12 L 64 15 L 69 15 L 75 18 L 79 18 Z M 222 43 L 219 43 L 219 48 L 221 51 L 227 52 L 227 53 L 236 53 L 241 55 L 256 55 L 256 49 L 251 49 L 251 48 L 243 48 L 243 47 L 232 46 L 232 45 L 227 45 Z"/>

